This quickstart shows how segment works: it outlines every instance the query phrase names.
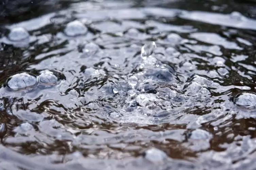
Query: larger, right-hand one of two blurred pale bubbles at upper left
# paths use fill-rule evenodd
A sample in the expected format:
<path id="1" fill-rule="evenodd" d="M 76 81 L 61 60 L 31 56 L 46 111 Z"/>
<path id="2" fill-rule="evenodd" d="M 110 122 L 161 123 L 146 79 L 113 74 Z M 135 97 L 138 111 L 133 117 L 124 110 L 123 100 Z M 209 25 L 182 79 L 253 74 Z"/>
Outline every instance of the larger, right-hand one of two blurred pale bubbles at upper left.
<path id="1" fill-rule="evenodd" d="M 84 35 L 88 31 L 87 27 L 80 21 L 69 22 L 64 30 L 65 34 L 70 37 Z"/>

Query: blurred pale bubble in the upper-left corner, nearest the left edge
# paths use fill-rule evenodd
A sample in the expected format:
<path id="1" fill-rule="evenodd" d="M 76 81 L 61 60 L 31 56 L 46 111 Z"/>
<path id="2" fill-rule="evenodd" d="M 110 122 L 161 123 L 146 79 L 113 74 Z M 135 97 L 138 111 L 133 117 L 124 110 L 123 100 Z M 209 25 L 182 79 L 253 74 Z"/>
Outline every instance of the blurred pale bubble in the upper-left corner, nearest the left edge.
<path id="1" fill-rule="evenodd" d="M 8 35 L 8 39 L 11 41 L 22 41 L 29 38 L 29 33 L 22 27 L 15 27 Z"/>

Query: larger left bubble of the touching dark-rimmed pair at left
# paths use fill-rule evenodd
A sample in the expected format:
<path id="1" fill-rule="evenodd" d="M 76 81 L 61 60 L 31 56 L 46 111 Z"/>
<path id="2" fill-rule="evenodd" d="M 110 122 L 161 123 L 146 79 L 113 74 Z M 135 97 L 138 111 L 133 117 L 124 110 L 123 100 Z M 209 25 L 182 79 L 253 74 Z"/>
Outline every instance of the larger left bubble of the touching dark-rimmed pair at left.
<path id="1" fill-rule="evenodd" d="M 5 84 L 12 90 L 31 89 L 37 86 L 38 77 L 29 72 L 18 72 L 10 76 Z"/>

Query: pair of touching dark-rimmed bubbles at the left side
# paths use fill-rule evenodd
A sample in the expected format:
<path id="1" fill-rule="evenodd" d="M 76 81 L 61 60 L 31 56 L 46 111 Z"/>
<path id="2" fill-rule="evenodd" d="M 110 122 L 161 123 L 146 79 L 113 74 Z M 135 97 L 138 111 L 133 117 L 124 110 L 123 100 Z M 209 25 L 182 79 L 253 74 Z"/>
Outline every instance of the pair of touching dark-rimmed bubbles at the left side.
<path id="1" fill-rule="evenodd" d="M 31 90 L 39 86 L 53 86 L 65 80 L 62 72 L 57 70 L 43 70 L 38 76 L 30 72 L 17 72 L 7 78 L 5 85 L 12 91 Z"/>

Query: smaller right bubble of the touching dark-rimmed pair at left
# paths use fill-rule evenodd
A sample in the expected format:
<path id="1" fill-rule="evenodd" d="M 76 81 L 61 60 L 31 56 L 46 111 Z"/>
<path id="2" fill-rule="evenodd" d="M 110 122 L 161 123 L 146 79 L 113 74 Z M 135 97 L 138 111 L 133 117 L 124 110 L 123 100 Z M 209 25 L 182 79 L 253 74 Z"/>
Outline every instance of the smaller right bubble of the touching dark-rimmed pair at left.
<path id="1" fill-rule="evenodd" d="M 59 71 L 43 70 L 38 76 L 40 84 L 45 86 L 57 85 L 61 79 L 63 79 L 63 73 Z"/>

